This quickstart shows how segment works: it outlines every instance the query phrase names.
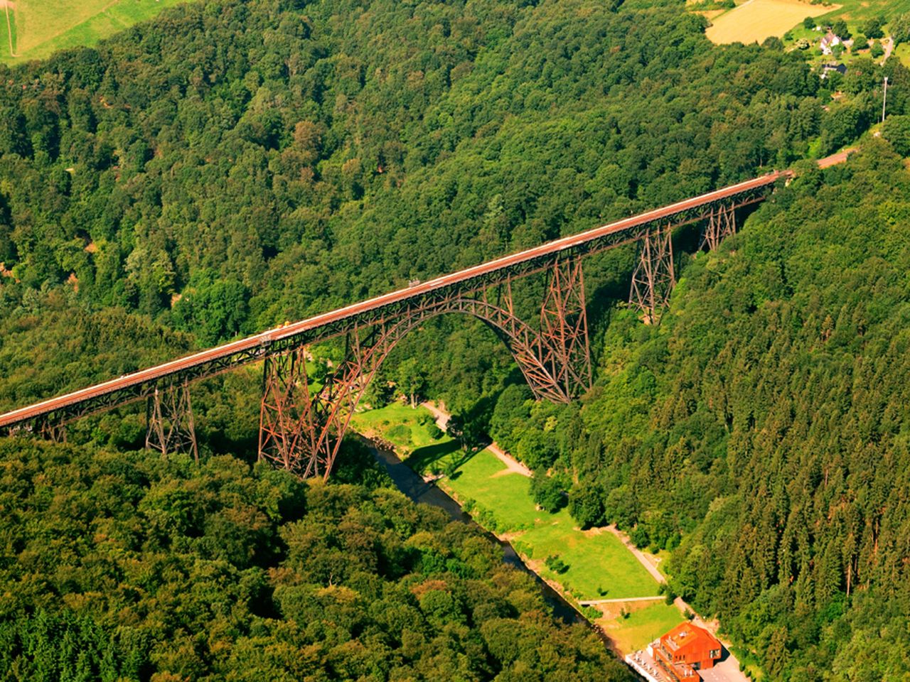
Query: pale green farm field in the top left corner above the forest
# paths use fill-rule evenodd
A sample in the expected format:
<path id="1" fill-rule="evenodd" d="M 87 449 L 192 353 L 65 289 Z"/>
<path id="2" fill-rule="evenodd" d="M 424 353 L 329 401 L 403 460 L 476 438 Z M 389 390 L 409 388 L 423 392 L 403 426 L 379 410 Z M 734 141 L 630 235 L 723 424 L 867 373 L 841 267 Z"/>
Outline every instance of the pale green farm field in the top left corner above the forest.
<path id="1" fill-rule="evenodd" d="M 5 10 L 12 32 L 3 36 L 0 59 L 7 64 L 50 55 L 78 45 L 94 45 L 128 26 L 187 0 L 11 0 Z M 5 28 L 4 33 L 7 32 Z"/>

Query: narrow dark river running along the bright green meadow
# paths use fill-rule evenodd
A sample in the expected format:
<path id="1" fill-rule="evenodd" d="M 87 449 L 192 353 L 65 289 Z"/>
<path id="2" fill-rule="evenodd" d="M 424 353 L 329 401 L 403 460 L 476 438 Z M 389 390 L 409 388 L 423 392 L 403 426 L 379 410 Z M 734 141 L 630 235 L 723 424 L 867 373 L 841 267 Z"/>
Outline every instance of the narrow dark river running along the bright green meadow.
<path id="1" fill-rule="evenodd" d="M 534 573 L 529 567 L 526 567 L 521 561 L 521 557 L 515 552 L 515 549 L 511 546 L 510 543 L 501 540 L 499 537 L 494 536 L 488 530 L 483 527 L 480 527 L 477 523 L 474 522 L 471 517 L 461 510 L 461 506 L 453 500 L 450 496 L 446 495 L 438 486 L 434 486 L 431 483 L 427 483 L 420 476 L 414 473 L 414 471 L 404 464 L 399 457 L 388 448 L 385 448 L 375 441 L 369 439 L 364 439 L 364 442 L 369 446 L 370 451 L 373 453 L 373 456 L 376 458 L 376 461 L 379 462 L 386 472 L 389 474 L 389 477 L 395 483 L 395 486 L 409 496 L 414 502 L 422 502 L 426 505 L 438 506 L 443 511 L 447 512 L 450 517 L 456 521 L 461 521 L 462 523 L 470 524 L 471 526 L 480 528 L 480 531 L 489 537 L 493 542 L 502 547 L 503 558 L 502 560 L 509 564 L 512 567 L 516 567 L 521 571 L 524 571 L 529 576 L 534 578 L 534 582 L 537 583 L 537 586 L 541 588 L 543 593 L 543 598 L 546 600 L 547 604 L 552 608 L 553 614 L 558 617 L 564 623 L 582 623 L 588 627 L 591 627 L 600 637 L 605 641 L 609 641 L 606 637 L 603 636 L 599 628 L 594 627 L 587 618 L 583 617 L 574 607 L 571 606 L 569 602 L 563 599 L 559 592 L 554 590 L 552 587 L 547 585 L 546 582 L 541 579 L 536 573 Z"/>

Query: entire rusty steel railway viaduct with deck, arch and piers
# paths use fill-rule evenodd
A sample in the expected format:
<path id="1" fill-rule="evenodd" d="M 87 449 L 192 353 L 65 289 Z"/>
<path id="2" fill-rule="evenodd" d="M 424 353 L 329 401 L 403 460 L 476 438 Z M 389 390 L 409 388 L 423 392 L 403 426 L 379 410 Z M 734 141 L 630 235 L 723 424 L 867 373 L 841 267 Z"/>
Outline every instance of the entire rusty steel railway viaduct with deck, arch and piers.
<path id="1" fill-rule="evenodd" d="M 146 446 L 197 456 L 189 384 L 262 361 L 259 457 L 298 476 L 328 477 L 354 408 L 391 349 L 428 318 L 456 312 L 493 329 L 534 396 L 569 402 L 591 384 L 583 257 L 637 242 L 630 302 L 656 322 L 675 283 L 672 230 L 699 223 L 702 246 L 713 249 L 735 231 L 737 208 L 763 201 L 790 175 L 773 172 L 22 407 L 0 415 L 0 436 L 59 440 L 66 436 L 66 424 L 79 417 L 145 400 Z M 529 323 L 515 313 L 511 285 L 532 273 L 544 273 L 547 285 L 540 317 Z M 313 385 L 307 376 L 307 346 L 342 336 L 344 360 L 322 386 Z"/>

